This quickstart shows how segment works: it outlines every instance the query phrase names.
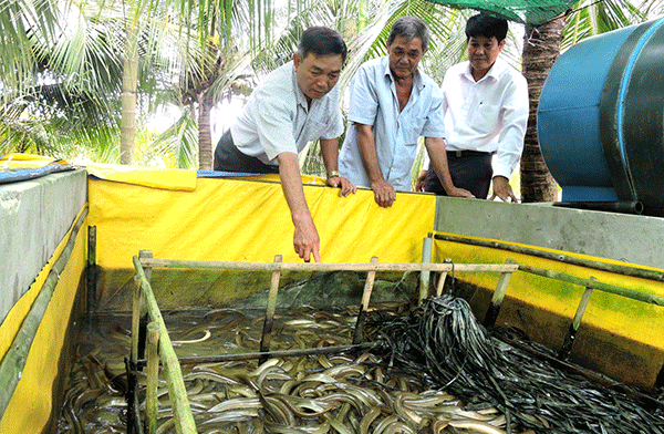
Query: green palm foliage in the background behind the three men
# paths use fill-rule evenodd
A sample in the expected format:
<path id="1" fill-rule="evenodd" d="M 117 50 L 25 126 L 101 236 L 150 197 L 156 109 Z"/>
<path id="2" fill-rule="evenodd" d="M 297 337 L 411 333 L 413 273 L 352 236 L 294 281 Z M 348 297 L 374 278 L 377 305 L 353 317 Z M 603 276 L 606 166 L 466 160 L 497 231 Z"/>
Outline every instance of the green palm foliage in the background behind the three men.
<path id="1" fill-rule="evenodd" d="M 663 3 L 578 2 L 563 49 L 661 14 Z M 138 29 L 139 53 L 136 162 L 196 167 L 203 99 L 219 104 L 247 94 L 261 75 L 292 58 L 309 25 L 335 28 L 346 40 L 343 90 L 362 62 L 385 54 L 390 25 L 404 14 L 428 23 L 423 68 L 440 82 L 466 55 L 463 27 L 473 13 L 425 0 L 0 0 L 0 153 L 118 162 L 123 50 L 131 27 Z M 504 55 L 516 68 L 520 45 L 519 33 L 510 33 Z M 181 116 L 157 134 L 147 122 L 165 106 Z M 305 170 L 318 174 L 320 167 Z"/>

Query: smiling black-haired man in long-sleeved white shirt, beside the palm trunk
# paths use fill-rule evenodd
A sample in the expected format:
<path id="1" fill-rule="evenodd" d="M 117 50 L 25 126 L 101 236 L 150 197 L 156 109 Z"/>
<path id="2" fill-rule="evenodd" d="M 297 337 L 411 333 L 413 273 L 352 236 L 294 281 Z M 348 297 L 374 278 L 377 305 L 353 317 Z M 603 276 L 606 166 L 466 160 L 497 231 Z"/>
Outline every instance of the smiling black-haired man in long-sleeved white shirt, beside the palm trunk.
<path id="1" fill-rule="evenodd" d="M 475 197 L 517 202 L 509 177 L 523 149 L 528 123 L 528 83 L 498 54 L 508 24 L 484 13 L 466 23 L 468 61 L 453 65 L 443 81 L 443 113 L 449 173 L 455 185 Z M 494 154 L 496 156 L 494 157 Z M 426 162 L 425 162 L 425 166 Z M 417 188 L 446 195 L 435 167 L 418 176 Z"/>

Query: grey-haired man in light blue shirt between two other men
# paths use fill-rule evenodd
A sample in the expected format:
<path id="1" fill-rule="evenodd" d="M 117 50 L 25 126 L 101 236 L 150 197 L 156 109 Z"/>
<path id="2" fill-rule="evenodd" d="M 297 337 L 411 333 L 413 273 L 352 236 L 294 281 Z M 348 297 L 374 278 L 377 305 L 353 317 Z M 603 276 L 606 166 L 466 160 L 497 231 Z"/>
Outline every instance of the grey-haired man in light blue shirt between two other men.
<path id="1" fill-rule="evenodd" d="M 352 183 L 371 187 L 376 203 L 390 207 L 396 190 L 411 190 L 411 169 L 419 136 L 450 196 L 456 188 L 447 169 L 443 94 L 417 66 L 428 45 L 428 29 L 415 17 L 395 21 L 387 56 L 365 62 L 350 87 L 349 127 L 339 169 Z"/>

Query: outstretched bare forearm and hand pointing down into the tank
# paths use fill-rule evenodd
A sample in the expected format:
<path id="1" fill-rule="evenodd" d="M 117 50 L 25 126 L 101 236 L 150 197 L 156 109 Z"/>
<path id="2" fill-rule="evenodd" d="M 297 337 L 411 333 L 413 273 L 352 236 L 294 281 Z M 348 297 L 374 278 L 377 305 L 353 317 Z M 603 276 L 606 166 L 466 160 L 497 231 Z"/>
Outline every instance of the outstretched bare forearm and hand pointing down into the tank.
<path id="1" fill-rule="evenodd" d="M 293 235 L 295 252 L 305 262 L 311 260 L 312 255 L 313 259 L 320 262 L 321 240 L 307 206 L 298 156 L 293 153 L 284 152 L 277 156 L 277 161 L 279 162 L 281 188 L 283 189 L 283 196 L 290 208 L 291 218 L 295 227 Z"/>

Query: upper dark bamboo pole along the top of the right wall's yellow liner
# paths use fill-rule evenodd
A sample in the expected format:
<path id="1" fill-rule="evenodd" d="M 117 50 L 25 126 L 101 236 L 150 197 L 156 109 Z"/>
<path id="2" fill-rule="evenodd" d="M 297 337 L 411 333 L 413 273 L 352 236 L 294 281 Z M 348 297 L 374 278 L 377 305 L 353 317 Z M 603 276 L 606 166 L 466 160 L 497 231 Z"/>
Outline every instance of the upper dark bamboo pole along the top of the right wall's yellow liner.
<path id="1" fill-rule="evenodd" d="M 460 242 L 467 244 L 471 246 L 480 246 L 480 247 L 489 247 L 492 249 L 507 250 L 515 254 L 535 256 L 538 258 L 544 258 L 554 260 L 558 262 L 571 264 L 579 267 L 592 268 L 601 271 L 614 272 L 616 275 L 639 277 L 642 279 L 655 280 L 655 281 L 664 281 L 664 272 L 647 270 L 644 268 L 631 267 L 631 266 L 622 266 L 616 264 L 608 264 L 601 262 L 598 260 L 591 260 L 585 258 L 577 258 L 572 256 L 567 256 L 563 254 L 558 254 L 553 251 L 544 251 L 540 249 L 535 249 L 531 247 L 525 246 L 516 246 L 512 244 L 500 242 L 500 241 L 490 241 L 490 240 L 481 240 L 475 238 L 466 238 L 461 236 L 450 235 L 450 234 L 434 234 L 435 239 L 440 239 L 444 241 L 450 242 Z"/>

